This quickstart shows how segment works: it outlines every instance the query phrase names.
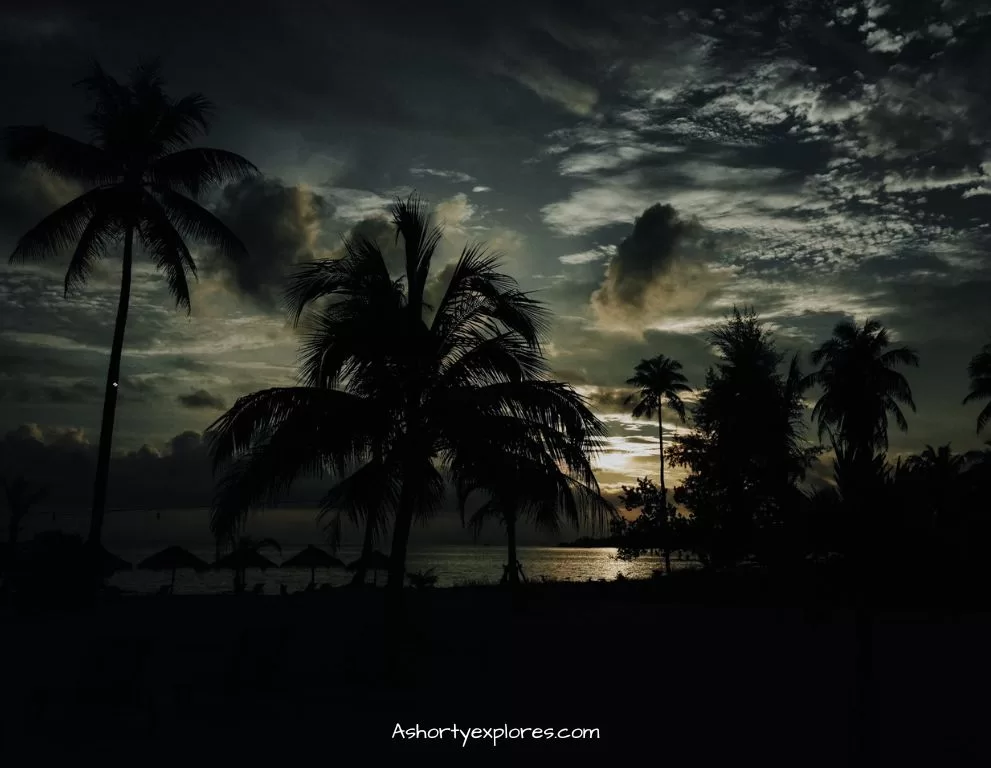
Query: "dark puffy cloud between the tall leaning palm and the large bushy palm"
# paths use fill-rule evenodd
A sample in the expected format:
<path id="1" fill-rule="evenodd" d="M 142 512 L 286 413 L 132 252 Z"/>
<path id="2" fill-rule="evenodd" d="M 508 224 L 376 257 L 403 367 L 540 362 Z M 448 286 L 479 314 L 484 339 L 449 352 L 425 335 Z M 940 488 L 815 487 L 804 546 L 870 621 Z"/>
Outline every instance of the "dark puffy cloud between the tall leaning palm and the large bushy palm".
<path id="1" fill-rule="evenodd" d="M 237 295 L 276 309 L 293 264 L 326 252 L 323 227 L 334 213 L 323 196 L 278 179 L 247 179 L 224 189 L 216 214 L 241 238 L 248 254 L 236 262 L 211 254 L 208 276 L 219 276 Z"/>

